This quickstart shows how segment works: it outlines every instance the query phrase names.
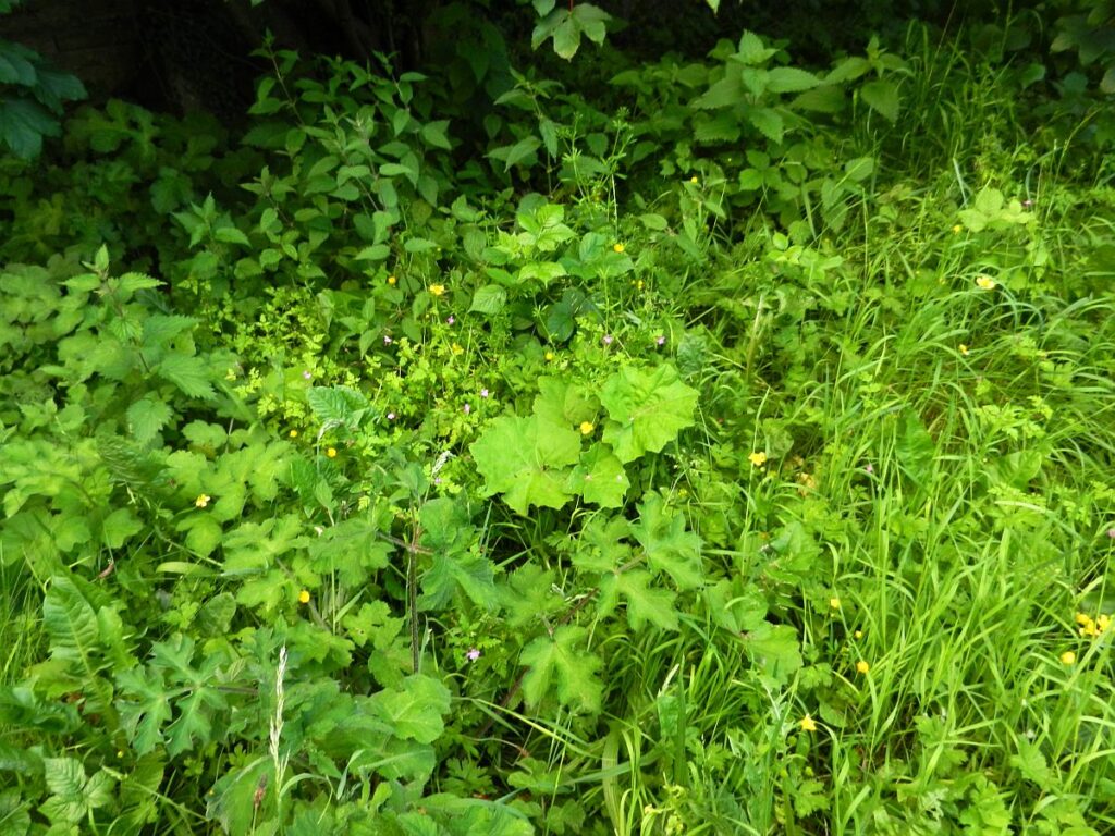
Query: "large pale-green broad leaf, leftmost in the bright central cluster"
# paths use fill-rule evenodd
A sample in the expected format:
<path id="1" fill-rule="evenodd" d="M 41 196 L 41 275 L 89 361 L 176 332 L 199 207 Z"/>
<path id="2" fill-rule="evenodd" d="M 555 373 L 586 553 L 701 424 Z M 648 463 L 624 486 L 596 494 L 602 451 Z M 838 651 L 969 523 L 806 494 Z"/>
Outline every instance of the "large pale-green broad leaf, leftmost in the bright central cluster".
<path id="1" fill-rule="evenodd" d="M 537 416 L 496 418 L 468 448 L 488 494 L 525 515 L 531 505 L 560 508 L 569 502 L 569 466 L 581 453 L 581 437 Z"/>

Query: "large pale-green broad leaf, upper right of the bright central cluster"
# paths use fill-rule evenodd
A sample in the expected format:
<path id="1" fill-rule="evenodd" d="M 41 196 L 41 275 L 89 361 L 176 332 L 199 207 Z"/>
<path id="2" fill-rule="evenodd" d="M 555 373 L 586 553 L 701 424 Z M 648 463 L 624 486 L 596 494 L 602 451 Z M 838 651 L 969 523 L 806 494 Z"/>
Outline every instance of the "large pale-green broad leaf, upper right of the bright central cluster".
<path id="1" fill-rule="evenodd" d="M 604 441 L 627 463 L 658 453 L 692 426 L 697 390 L 682 383 L 672 366 L 649 371 L 626 367 L 604 382 L 600 402 L 610 419 Z"/>

